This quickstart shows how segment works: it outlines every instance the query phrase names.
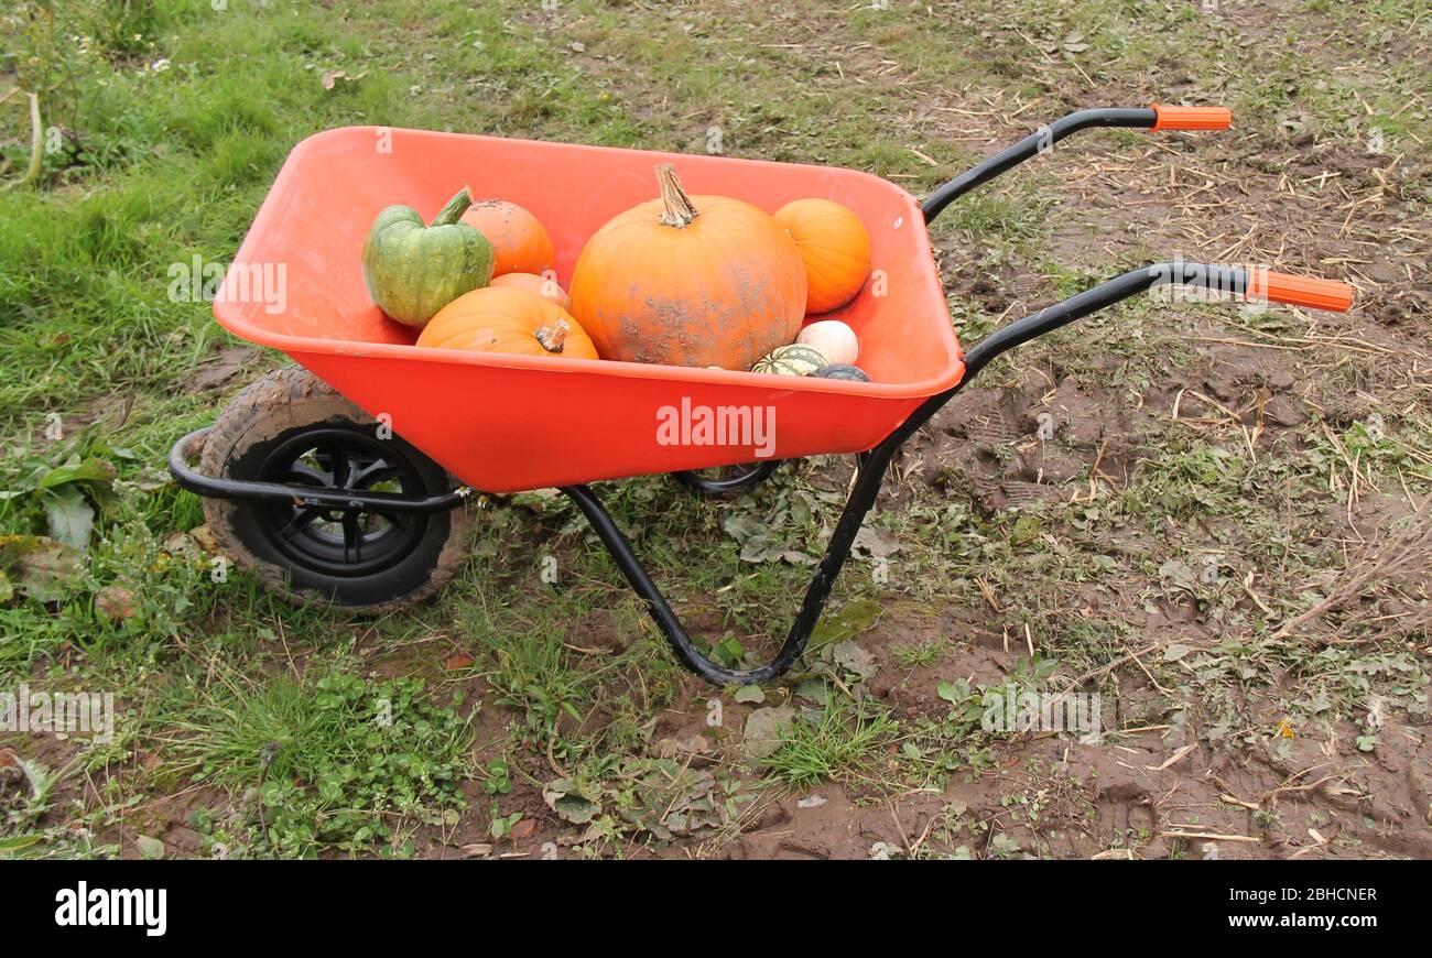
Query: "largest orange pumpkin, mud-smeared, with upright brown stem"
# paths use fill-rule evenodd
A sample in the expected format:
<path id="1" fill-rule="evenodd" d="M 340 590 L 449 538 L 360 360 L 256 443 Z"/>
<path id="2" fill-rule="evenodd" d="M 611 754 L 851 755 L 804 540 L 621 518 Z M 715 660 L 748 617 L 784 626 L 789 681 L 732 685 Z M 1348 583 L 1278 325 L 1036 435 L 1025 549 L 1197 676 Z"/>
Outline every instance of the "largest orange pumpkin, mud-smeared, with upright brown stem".
<path id="1" fill-rule="evenodd" d="M 796 338 L 800 255 L 769 215 L 729 196 L 687 196 L 670 163 L 660 199 L 587 241 L 569 294 L 603 359 L 748 369 Z"/>

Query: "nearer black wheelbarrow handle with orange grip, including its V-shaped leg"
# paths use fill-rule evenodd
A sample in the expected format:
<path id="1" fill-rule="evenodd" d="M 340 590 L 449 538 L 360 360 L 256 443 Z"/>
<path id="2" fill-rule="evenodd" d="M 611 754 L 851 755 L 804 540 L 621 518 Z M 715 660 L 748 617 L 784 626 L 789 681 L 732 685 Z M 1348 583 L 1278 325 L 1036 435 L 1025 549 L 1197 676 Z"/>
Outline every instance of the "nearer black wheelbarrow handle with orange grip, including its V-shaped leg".
<path id="1" fill-rule="evenodd" d="M 792 623 L 790 632 L 776 656 L 755 669 L 727 669 L 707 659 L 682 626 L 682 620 L 672 610 L 670 604 L 667 604 L 666 597 L 662 596 L 662 590 L 657 589 L 656 583 L 646 573 L 646 568 L 642 567 L 642 561 L 632 551 L 632 544 L 621 534 L 621 530 L 617 528 L 611 516 L 601 507 L 601 501 L 596 494 L 586 485 L 567 485 L 561 491 L 587 517 L 587 523 L 607 547 L 617 568 L 621 570 L 627 583 L 630 583 L 632 589 L 646 603 L 652 620 L 662 630 L 662 634 L 666 636 L 672 650 L 687 669 L 707 682 L 720 686 L 753 684 L 778 679 L 805 652 L 811 633 L 815 632 L 825 603 L 831 596 L 831 589 L 835 586 L 841 568 L 851 556 L 851 546 L 855 544 L 855 537 L 865 523 L 865 516 L 875 505 L 881 484 L 885 481 L 885 470 L 905 440 L 924 427 L 955 392 L 968 385 L 1001 352 L 1158 285 L 1197 286 L 1243 298 L 1263 296 L 1279 302 L 1296 302 L 1317 308 L 1346 309 L 1352 304 L 1352 286 L 1346 284 L 1287 276 L 1260 269 L 1249 271 L 1239 266 L 1211 266 L 1207 263 L 1171 261 L 1154 263 L 1143 269 L 1133 269 L 1093 289 L 1085 289 L 1063 302 L 1057 302 L 1040 312 L 1001 326 L 965 352 L 965 371 L 959 382 L 925 400 L 879 445 L 861 454 L 855 488 L 851 491 L 851 498 L 846 501 L 835 531 L 831 534 L 825 556 L 821 557 L 821 563 L 816 566 L 815 579 L 811 580 L 811 586 L 806 589 L 805 600 L 796 613 L 796 620 Z M 735 480 L 740 483 L 739 488 L 750 484 L 750 475 L 746 474 Z"/>

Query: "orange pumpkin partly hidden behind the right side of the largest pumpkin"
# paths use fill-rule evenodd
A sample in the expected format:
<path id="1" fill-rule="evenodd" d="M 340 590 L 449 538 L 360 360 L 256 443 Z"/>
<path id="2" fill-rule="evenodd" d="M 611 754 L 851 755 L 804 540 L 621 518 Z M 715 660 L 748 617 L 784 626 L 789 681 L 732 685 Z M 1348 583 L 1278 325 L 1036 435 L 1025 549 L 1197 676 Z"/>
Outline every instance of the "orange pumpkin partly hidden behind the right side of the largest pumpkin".
<path id="1" fill-rule="evenodd" d="M 871 275 L 871 235 L 855 211 L 829 199 L 796 199 L 776 211 L 806 268 L 806 312 L 855 299 Z"/>

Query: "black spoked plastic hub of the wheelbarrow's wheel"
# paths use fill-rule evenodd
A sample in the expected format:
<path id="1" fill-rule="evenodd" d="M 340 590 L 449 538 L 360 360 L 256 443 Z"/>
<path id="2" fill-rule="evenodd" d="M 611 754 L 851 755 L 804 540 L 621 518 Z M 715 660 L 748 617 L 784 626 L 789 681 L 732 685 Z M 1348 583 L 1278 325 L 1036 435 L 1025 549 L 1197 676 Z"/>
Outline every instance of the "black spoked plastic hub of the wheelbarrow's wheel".
<path id="1" fill-rule="evenodd" d="M 372 427 L 305 430 L 279 442 L 259 465 L 261 481 L 425 495 L 417 468 Z M 261 505 L 259 531 L 292 564 L 326 576 L 371 576 L 397 566 L 422 541 L 420 513 Z"/>

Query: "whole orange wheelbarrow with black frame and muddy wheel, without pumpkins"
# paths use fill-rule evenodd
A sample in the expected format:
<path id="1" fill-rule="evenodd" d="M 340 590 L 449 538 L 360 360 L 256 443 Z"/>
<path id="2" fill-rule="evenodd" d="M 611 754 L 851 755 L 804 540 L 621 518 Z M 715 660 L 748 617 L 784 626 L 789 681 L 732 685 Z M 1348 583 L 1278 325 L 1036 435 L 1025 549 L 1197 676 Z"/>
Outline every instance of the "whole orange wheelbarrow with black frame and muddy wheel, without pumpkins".
<path id="1" fill-rule="evenodd" d="M 924 203 L 849 169 L 422 130 L 318 133 L 289 155 L 215 304 L 225 328 L 281 349 L 301 368 L 251 385 L 213 427 L 180 438 L 169 467 L 182 487 L 205 497 L 225 551 L 266 584 L 295 600 L 368 611 L 444 584 L 467 544 L 464 504 L 474 491 L 557 487 L 583 511 L 687 667 L 720 684 L 766 682 L 805 649 L 891 457 L 1001 352 L 1169 284 L 1319 309 L 1350 306 L 1345 284 L 1176 261 L 1110 279 L 961 351 L 927 233 L 948 203 L 1081 129 L 1227 125 L 1221 107 L 1081 110 Z M 823 196 L 861 216 L 881 282 L 833 315 L 855 329 L 871 382 L 418 348 L 414 329 L 368 299 L 359 249 L 368 223 L 394 198 L 431 212 L 454 183 L 478 182 L 484 195 L 520 203 L 548 225 L 566 284 L 586 239 L 649 199 L 659 162 L 679 163 L 693 193 L 736 196 L 768 212 Z M 252 295 L 263 271 L 274 269 L 286 279 L 281 309 Z M 657 441 L 659 411 L 683 404 L 769 411 L 773 444 Z M 750 669 L 703 654 L 589 488 L 597 480 L 670 473 L 700 493 L 735 493 L 783 460 L 828 453 L 859 455 L 853 490 L 783 646 Z M 716 480 L 699 474 L 715 467 L 740 468 Z"/>

